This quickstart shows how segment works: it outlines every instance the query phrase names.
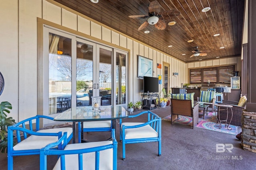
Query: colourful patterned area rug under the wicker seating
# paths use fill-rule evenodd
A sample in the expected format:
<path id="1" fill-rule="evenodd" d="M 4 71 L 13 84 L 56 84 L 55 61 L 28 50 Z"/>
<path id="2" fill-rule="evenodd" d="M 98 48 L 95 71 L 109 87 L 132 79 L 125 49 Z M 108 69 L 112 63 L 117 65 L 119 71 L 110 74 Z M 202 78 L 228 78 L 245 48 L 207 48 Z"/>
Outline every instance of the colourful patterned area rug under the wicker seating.
<path id="1" fill-rule="evenodd" d="M 171 115 L 162 118 L 162 120 L 165 121 L 171 121 Z M 179 115 L 179 119 L 175 120 L 174 122 L 176 123 L 180 123 L 183 125 L 192 125 L 192 118 L 188 117 L 188 116 L 182 116 Z M 237 126 L 234 125 L 230 125 L 230 127 L 232 128 L 231 130 L 228 130 L 225 127 L 225 124 L 222 124 L 221 129 L 219 129 L 219 127 L 216 126 L 216 116 L 215 116 L 215 112 L 208 112 L 208 115 L 204 115 L 204 119 L 202 115 L 199 115 L 199 121 L 198 121 L 198 125 L 196 125 L 195 127 L 199 127 L 202 129 L 208 129 L 211 131 L 217 131 L 217 132 L 222 132 L 222 133 L 228 133 L 231 135 L 236 135 L 237 134 Z"/>

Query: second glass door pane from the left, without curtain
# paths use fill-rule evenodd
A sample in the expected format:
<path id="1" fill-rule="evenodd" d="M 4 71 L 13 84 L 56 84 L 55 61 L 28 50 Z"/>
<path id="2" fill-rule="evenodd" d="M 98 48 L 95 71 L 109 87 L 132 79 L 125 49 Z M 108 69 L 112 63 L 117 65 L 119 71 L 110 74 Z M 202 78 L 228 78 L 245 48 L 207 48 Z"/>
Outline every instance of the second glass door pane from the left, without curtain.
<path id="1" fill-rule="evenodd" d="M 76 106 L 92 106 L 95 44 L 76 43 Z"/>

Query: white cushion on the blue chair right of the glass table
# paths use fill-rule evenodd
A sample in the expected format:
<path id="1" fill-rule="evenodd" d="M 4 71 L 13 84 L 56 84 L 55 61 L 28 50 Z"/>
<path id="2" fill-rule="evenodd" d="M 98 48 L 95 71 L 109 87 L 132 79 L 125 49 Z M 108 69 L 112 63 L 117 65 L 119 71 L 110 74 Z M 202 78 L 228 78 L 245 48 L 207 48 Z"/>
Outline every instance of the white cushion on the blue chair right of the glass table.
<path id="1" fill-rule="evenodd" d="M 143 123 L 139 122 L 124 122 L 121 124 L 125 126 L 134 126 L 134 125 L 140 125 Z M 125 129 L 125 137 L 124 139 L 140 139 L 140 138 L 150 138 L 150 137 L 158 137 L 158 133 L 150 126 L 142 126 L 132 129 Z"/>

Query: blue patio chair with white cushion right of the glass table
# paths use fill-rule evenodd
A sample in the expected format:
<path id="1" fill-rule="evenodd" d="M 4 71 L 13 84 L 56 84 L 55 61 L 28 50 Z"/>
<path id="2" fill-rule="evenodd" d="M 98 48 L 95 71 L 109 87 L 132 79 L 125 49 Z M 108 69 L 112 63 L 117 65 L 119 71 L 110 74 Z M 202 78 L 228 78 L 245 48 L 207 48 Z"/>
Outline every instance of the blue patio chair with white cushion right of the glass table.
<path id="1" fill-rule="evenodd" d="M 129 143 L 158 142 L 158 156 L 161 156 L 161 117 L 151 111 L 142 111 L 129 118 L 147 114 L 146 122 L 123 122 L 120 119 L 120 141 L 122 141 L 123 160 L 125 160 L 125 145 Z"/>

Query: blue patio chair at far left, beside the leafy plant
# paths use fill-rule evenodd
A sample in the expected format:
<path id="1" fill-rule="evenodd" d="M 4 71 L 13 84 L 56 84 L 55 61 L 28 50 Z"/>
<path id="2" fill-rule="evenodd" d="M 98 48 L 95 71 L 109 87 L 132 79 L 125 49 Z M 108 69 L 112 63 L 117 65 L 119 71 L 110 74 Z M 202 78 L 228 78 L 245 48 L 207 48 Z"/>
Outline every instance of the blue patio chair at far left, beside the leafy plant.
<path id="1" fill-rule="evenodd" d="M 67 142 L 72 139 L 72 127 L 40 130 L 42 119 L 53 120 L 52 117 L 36 115 L 8 127 L 8 170 L 13 169 L 13 156 L 40 154 L 41 148 L 58 141 L 64 132 L 67 133 Z M 13 145 L 14 135 L 17 137 L 16 145 Z M 59 144 L 52 149 L 63 149 L 63 145 Z"/>

